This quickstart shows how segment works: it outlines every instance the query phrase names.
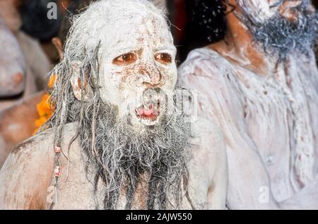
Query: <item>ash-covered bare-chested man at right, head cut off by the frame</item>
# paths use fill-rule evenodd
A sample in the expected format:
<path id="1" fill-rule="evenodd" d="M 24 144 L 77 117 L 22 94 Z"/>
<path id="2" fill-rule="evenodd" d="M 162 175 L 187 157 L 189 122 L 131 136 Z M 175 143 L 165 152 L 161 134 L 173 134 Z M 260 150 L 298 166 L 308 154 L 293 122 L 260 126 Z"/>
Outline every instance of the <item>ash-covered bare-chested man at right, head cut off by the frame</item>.
<path id="1" fill-rule="evenodd" d="M 228 207 L 318 208 L 314 8 L 310 1 L 210 4 L 211 15 L 226 8 L 225 38 L 191 52 L 179 71 L 199 92 L 199 114 L 223 129 Z"/>

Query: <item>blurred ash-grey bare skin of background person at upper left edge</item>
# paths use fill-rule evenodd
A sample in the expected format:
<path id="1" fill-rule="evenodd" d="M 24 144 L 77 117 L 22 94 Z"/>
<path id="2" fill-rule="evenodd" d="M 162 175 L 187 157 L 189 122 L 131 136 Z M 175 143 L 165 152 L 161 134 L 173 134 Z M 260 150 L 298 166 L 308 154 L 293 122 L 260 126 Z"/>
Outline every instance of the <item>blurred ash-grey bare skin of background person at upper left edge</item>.
<path id="1" fill-rule="evenodd" d="M 25 60 L 16 37 L 0 16 L 0 98 L 23 92 Z"/>

